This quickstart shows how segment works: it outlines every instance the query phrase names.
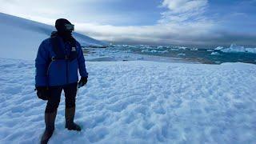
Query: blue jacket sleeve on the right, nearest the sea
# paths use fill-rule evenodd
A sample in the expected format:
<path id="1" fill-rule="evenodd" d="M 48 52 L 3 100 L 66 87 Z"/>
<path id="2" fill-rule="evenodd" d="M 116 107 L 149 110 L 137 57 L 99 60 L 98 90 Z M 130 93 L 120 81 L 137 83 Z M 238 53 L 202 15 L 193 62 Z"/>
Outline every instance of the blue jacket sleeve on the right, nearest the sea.
<path id="1" fill-rule="evenodd" d="M 85 57 L 83 56 L 82 47 L 78 42 L 77 42 L 77 45 L 78 45 L 79 74 L 81 75 L 81 77 L 88 77 L 88 73 L 87 73 L 87 70 L 86 70 L 86 60 L 85 60 Z"/>

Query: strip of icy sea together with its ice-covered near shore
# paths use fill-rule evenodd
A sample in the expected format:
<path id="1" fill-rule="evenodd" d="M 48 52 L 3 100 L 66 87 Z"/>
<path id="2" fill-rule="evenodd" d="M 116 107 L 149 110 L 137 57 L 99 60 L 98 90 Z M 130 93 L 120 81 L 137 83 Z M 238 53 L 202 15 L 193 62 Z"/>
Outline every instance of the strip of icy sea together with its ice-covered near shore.
<path id="1" fill-rule="evenodd" d="M 175 46 L 107 46 L 106 48 L 83 47 L 89 61 L 155 61 L 221 64 L 225 62 L 245 62 L 256 64 L 256 54 L 243 51 L 241 46 L 230 48 L 218 46 L 215 50 L 195 47 Z M 247 48 L 246 48 L 247 50 Z M 256 50 L 256 49 L 254 49 Z"/>

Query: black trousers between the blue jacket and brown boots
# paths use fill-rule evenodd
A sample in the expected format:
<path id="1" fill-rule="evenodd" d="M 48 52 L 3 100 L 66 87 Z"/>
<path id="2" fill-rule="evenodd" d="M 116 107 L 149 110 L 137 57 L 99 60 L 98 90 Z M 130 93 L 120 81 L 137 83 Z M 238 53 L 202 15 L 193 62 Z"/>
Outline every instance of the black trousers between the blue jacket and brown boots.
<path id="1" fill-rule="evenodd" d="M 51 86 L 50 98 L 46 105 L 46 113 L 53 113 L 58 109 L 59 102 L 61 100 L 62 90 L 65 93 L 65 105 L 66 108 L 75 106 L 75 97 L 77 94 L 78 82 L 66 85 L 66 86 Z"/>

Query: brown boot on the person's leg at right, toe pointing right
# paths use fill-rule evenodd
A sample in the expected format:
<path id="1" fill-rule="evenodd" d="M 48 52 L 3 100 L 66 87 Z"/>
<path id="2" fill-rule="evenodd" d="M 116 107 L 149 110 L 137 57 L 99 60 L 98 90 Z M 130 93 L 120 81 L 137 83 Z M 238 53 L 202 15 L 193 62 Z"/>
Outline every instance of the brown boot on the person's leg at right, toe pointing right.
<path id="1" fill-rule="evenodd" d="M 65 118 L 66 118 L 66 128 L 67 130 L 77 130 L 81 131 L 81 127 L 78 124 L 74 123 L 74 113 L 75 107 L 66 108 L 65 110 Z"/>

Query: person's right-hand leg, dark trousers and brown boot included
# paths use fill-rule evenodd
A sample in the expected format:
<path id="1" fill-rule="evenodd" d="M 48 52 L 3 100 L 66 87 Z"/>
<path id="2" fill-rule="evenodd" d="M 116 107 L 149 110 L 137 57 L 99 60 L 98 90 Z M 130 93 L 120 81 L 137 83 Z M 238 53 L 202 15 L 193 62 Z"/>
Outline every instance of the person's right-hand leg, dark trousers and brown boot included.
<path id="1" fill-rule="evenodd" d="M 64 87 L 65 92 L 65 118 L 66 118 L 66 128 L 68 130 L 81 130 L 81 127 L 74 123 L 75 114 L 75 97 L 77 94 L 78 83 L 73 83 Z"/>

